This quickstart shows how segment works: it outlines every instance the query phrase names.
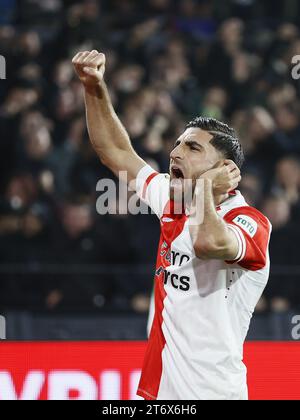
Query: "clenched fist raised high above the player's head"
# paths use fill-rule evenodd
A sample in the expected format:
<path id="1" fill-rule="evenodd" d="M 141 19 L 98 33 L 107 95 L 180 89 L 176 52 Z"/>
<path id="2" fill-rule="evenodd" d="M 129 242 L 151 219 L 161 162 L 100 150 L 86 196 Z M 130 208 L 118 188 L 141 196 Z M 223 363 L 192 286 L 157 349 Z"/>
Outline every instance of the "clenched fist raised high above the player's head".
<path id="1" fill-rule="evenodd" d="M 97 50 L 79 52 L 72 60 L 77 76 L 85 88 L 101 84 L 105 72 L 105 55 Z"/>

